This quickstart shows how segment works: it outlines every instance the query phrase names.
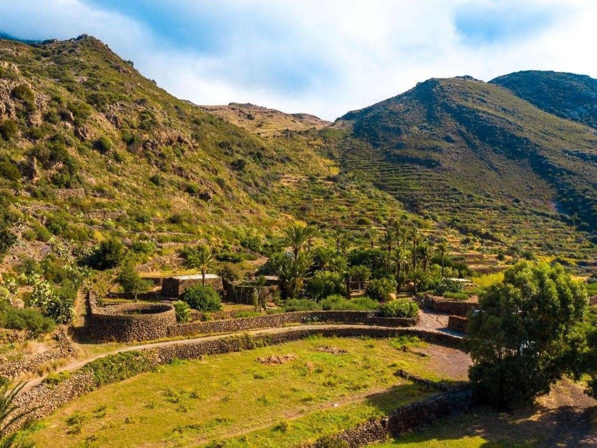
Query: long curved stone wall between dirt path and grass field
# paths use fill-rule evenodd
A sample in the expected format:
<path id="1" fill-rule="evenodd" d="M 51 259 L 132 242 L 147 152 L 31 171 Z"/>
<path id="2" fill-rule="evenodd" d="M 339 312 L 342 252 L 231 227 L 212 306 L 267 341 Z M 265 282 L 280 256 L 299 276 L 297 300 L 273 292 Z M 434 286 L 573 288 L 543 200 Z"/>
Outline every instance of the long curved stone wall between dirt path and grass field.
<path id="1" fill-rule="evenodd" d="M 420 329 L 321 327 L 317 329 L 293 329 L 279 333 L 260 333 L 253 336 L 245 333 L 240 336 L 222 336 L 216 339 L 168 342 L 164 343 L 164 345 L 152 348 L 139 349 L 139 352 L 146 355 L 147 370 L 150 370 L 160 364 L 168 364 L 175 358 L 190 360 L 200 358 L 204 355 L 223 354 L 258 348 L 261 346 L 293 342 L 295 340 L 305 339 L 312 335 L 322 335 L 324 337 L 396 337 L 410 335 L 420 337 L 420 339 L 425 340 L 426 342 L 437 343 L 439 345 L 460 347 L 461 344 L 461 338 L 459 337 Z M 99 388 L 93 371 L 86 368 L 89 365 L 90 364 L 87 364 L 82 369 L 72 373 L 70 378 L 65 379 L 55 386 L 41 383 L 38 386 L 29 389 L 29 391 L 17 395 L 14 403 L 17 406 L 16 412 L 33 410 L 31 416 L 34 418 L 42 418 L 79 395 Z M 17 424 L 11 426 L 11 429 L 17 429 Z"/>

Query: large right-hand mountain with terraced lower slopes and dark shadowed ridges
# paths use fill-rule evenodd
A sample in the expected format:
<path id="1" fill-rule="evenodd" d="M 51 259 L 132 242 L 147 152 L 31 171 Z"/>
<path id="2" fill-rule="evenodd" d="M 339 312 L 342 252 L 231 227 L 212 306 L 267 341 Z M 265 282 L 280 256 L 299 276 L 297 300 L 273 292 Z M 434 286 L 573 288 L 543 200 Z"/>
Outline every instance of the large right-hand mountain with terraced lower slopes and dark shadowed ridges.
<path id="1" fill-rule="evenodd" d="M 470 76 L 429 79 L 334 127 L 352 136 L 343 170 L 409 210 L 482 240 L 594 259 L 584 232 L 597 228 L 592 128 Z"/>

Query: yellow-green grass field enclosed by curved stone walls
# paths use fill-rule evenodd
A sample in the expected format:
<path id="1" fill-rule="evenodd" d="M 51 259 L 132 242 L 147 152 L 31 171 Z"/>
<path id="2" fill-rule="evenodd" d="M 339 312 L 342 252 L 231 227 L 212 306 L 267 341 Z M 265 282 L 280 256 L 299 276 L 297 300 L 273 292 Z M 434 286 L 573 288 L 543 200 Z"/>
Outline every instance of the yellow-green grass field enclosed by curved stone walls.
<path id="1" fill-rule="evenodd" d="M 41 447 L 292 447 L 428 396 L 393 373 L 451 379 L 441 357 L 421 356 L 435 347 L 312 337 L 179 361 L 78 398 L 40 422 L 33 439 Z M 257 360 L 272 355 L 290 357 Z"/>

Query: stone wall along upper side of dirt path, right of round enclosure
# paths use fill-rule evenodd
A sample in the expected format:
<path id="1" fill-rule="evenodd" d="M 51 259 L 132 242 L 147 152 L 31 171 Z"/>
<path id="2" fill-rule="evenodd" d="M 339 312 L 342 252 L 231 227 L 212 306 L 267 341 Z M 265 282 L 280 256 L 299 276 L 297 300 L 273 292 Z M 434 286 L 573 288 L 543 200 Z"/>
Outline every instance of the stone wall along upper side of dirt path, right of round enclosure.
<path id="1" fill-rule="evenodd" d="M 416 319 L 378 317 L 371 311 L 293 311 L 269 314 L 259 317 L 198 321 L 179 324 L 168 329 L 168 336 L 207 335 L 211 333 L 233 333 L 260 328 L 283 327 L 287 324 L 315 322 L 366 324 L 384 327 L 412 327 Z"/>

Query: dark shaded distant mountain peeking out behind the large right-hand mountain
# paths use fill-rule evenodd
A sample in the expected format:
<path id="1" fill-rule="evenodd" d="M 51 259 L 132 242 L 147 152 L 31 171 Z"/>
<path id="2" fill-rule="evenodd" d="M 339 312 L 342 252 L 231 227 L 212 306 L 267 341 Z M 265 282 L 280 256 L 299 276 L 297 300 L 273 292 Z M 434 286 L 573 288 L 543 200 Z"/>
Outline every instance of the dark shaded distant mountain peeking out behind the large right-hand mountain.
<path id="1" fill-rule="evenodd" d="M 527 70 L 498 76 L 501 85 L 543 111 L 597 128 L 597 79 L 574 73 Z"/>

